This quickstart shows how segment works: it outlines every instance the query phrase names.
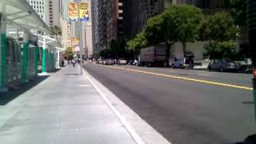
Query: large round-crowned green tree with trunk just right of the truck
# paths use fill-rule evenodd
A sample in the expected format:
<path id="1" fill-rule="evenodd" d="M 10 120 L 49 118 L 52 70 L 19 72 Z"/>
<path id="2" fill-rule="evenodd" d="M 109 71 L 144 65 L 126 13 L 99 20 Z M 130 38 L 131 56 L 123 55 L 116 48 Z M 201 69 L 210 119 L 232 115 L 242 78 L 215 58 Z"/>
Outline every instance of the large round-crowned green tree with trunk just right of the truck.
<path id="1" fill-rule="evenodd" d="M 166 10 L 164 19 L 166 38 L 181 42 L 186 57 L 186 42 L 194 42 L 198 38 L 203 22 L 202 11 L 195 6 L 175 5 Z"/>

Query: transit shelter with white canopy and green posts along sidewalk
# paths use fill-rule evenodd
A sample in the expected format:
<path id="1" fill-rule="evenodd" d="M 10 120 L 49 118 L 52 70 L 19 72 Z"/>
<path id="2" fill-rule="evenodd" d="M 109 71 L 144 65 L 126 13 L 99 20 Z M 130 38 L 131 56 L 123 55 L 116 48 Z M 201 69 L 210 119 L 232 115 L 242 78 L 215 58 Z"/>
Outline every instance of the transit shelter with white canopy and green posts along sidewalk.
<path id="1" fill-rule="evenodd" d="M 22 30 L 22 42 L 6 37 L 7 25 Z M 49 32 L 46 23 L 26 0 L 0 0 L 0 92 L 36 76 L 39 55 L 42 55 L 42 73 L 55 67 L 57 55 L 48 47 L 49 39 L 54 42 L 46 36 Z M 39 39 L 42 40 L 42 48 L 38 45 Z"/>

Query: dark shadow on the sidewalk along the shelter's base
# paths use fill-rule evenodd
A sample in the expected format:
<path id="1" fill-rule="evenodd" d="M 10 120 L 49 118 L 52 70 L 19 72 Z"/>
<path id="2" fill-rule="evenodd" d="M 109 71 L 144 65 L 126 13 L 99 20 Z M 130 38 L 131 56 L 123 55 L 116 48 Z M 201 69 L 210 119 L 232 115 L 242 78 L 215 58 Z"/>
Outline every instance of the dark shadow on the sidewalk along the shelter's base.
<path id="1" fill-rule="evenodd" d="M 30 82 L 22 83 L 18 86 L 18 90 L 9 90 L 8 92 L 1 93 L 0 94 L 0 106 L 4 106 L 7 103 L 11 102 L 15 98 L 18 98 L 18 96 L 24 94 L 26 91 L 30 90 L 34 86 L 37 86 L 40 82 L 44 81 L 49 76 L 40 76 L 37 78 L 34 78 L 34 80 L 31 80 Z"/>

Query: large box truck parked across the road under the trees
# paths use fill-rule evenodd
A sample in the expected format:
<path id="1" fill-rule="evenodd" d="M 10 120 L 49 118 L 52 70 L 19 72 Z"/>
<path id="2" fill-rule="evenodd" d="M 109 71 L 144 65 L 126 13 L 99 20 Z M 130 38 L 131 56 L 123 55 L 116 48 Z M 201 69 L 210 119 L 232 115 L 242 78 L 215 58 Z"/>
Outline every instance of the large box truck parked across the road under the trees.
<path id="1" fill-rule="evenodd" d="M 142 48 L 138 59 L 139 66 L 164 66 L 166 62 L 166 46 L 150 46 Z"/>

